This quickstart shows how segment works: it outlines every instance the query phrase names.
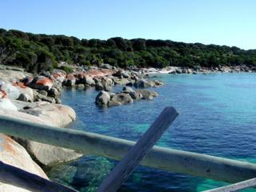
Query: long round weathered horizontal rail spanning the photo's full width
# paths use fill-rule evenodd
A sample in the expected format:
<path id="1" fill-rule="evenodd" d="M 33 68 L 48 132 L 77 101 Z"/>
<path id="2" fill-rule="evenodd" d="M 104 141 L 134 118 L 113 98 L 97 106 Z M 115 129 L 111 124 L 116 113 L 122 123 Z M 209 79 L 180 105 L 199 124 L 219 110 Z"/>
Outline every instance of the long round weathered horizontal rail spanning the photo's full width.
<path id="1" fill-rule="evenodd" d="M 3 116 L 0 116 L 0 132 L 35 142 L 73 149 L 82 154 L 100 155 L 116 160 L 122 160 L 135 145 L 135 142 L 124 139 L 79 130 L 60 129 Z M 156 141 L 157 139 L 154 142 Z M 138 157 L 143 157 L 144 155 L 142 153 L 142 156 Z M 141 160 L 141 158 L 136 159 L 138 162 Z M 142 159 L 140 164 L 142 166 L 150 166 L 181 174 L 192 174 L 223 182 L 242 182 L 250 178 L 256 178 L 256 165 L 254 163 L 158 146 L 154 146 L 146 152 L 146 157 Z M 136 163 L 132 166 L 133 169 L 135 166 Z"/>

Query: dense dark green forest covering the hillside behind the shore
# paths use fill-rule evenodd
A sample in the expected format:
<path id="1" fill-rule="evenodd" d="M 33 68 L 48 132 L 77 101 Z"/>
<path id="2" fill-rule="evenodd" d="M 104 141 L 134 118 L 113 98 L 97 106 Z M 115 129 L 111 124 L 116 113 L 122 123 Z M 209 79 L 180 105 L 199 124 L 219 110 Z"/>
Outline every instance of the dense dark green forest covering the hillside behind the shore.
<path id="1" fill-rule="evenodd" d="M 256 50 L 143 38 L 78 39 L 65 35 L 0 29 L 0 64 L 30 72 L 51 70 L 58 62 L 80 66 L 256 66 Z"/>

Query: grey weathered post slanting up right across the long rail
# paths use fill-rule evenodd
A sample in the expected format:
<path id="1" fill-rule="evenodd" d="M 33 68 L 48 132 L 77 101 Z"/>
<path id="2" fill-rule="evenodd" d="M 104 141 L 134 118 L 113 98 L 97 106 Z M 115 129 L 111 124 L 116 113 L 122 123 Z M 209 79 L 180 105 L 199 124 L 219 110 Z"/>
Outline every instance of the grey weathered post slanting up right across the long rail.
<path id="1" fill-rule="evenodd" d="M 122 185 L 122 182 L 129 177 L 142 158 L 150 151 L 162 134 L 170 126 L 171 122 L 178 116 L 177 111 L 169 106 L 162 110 L 162 113 L 150 126 L 142 138 L 132 147 L 122 161 L 114 167 L 114 170 L 103 180 L 98 192 L 115 192 Z"/>

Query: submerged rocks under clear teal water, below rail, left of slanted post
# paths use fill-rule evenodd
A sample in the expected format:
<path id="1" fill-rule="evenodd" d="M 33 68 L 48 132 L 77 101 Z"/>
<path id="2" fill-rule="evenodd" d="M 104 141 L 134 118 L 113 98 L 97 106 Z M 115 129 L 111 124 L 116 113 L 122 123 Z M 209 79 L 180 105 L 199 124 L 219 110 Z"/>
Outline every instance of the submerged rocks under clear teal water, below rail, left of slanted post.
<path id="1" fill-rule="evenodd" d="M 75 162 L 54 166 L 47 172 L 54 182 L 74 186 L 81 192 L 96 191 L 114 164 L 106 158 L 86 156 Z"/>

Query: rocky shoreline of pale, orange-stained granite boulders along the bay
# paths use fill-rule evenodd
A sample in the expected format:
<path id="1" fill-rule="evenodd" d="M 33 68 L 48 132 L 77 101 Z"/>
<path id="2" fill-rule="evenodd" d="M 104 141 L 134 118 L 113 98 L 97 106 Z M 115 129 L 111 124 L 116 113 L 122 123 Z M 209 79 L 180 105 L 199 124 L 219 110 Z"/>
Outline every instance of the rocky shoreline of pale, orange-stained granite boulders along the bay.
<path id="1" fill-rule="evenodd" d="M 64 64 L 66 65 L 66 64 Z M 123 70 L 102 64 L 101 66 L 74 67 L 73 72 L 55 69 L 42 71 L 34 76 L 22 68 L 0 65 L 0 115 L 25 121 L 64 128 L 74 122 L 76 114 L 69 106 L 62 105 L 59 98 L 62 87 L 98 90 L 95 104 L 102 107 L 121 106 L 139 99 L 152 100 L 158 93 L 152 88 L 163 86 L 163 82 L 151 80 L 150 74 L 209 74 L 218 72 L 256 72 L 256 67 L 222 66 L 216 68 L 182 68 Z M 123 86 L 114 93 L 114 86 Z M 10 138 L 0 134 L 0 160 L 12 166 L 47 178 L 40 166 L 66 162 L 79 158 L 73 150 L 31 142 L 21 138 Z M 39 166 L 38 166 L 39 165 Z M 0 183 L 1 191 L 27 191 L 16 186 Z"/>

